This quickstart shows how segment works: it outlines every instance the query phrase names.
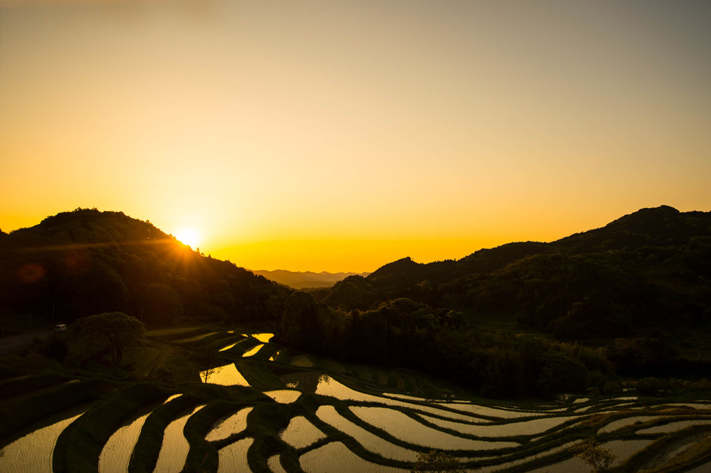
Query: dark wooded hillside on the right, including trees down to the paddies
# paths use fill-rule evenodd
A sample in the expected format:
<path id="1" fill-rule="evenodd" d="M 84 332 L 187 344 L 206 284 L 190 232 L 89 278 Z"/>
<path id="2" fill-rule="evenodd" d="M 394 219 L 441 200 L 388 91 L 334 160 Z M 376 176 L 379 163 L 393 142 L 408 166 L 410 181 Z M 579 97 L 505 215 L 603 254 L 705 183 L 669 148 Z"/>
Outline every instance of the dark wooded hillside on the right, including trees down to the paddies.
<path id="1" fill-rule="evenodd" d="M 643 209 L 552 243 L 400 259 L 292 295 L 284 341 L 387 360 L 488 396 L 614 390 L 711 371 L 711 214 Z M 656 386 L 656 387 L 654 387 Z"/>

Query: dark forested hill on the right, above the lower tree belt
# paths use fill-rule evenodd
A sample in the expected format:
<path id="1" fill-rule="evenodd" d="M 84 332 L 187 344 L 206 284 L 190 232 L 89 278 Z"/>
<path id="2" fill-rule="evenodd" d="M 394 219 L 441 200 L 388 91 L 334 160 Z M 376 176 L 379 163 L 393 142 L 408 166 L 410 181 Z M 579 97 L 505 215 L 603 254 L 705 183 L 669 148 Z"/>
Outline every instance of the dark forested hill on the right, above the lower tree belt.
<path id="1" fill-rule="evenodd" d="M 515 315 L 559 339 L 693 327 L 711 321 L 711 212 L 656 207 L 551 243 L 511 243 L 459 261 L 405 258 L 315 295 L 345 311 L 408 298 L 435 312 Z"/>

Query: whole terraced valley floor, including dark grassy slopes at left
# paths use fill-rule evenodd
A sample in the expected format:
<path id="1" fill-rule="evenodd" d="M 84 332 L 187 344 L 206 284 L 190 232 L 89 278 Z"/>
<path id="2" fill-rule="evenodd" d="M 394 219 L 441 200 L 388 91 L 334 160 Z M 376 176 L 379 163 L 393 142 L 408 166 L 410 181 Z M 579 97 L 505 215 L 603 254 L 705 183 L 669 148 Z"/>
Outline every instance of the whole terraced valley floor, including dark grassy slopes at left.
<path id="1" fill-rule="evenodd" d="M 590 438 L 615 455 L 611 471 L 711 462 L 708 391 L 492 400 L 417 371 L 296 352 L 248 327 L 151 330 L 145 344 L 120 375 L 5 367 L 0 470 L 406 472 L 437 449 L 466 471 L 585 472 L 570 449 Z"/>

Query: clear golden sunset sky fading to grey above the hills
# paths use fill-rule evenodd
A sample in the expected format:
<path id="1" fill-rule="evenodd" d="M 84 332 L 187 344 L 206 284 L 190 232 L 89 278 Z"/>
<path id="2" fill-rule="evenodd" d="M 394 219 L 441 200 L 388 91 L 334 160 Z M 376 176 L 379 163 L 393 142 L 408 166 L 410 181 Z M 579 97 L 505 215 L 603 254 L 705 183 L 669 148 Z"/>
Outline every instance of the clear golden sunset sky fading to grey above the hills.
<path id="1" fill-rule="evenodd" d="M 705 0 L 0 0 L 4 232 L 97 207 L 375 271 L 709 211 L 709 176 Z"/>

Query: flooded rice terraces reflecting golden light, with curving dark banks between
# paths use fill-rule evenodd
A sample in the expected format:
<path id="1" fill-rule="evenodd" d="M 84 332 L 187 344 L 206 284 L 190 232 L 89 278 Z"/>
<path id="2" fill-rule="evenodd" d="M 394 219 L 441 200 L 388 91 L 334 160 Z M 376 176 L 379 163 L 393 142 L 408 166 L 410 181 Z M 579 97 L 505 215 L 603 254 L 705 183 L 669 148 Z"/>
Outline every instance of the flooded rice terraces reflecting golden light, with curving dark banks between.
<path id="1" fill-rule="evenodd" d="M 456 398 L 444 389 L 436 396 L 437 381 L 418 374 L 292 354 L 272 344 L 270 334 L 245 337 L 253 346 L 244 355 L 220 352 L 224 345 L 203 337 L 221 360 L 200 373 L 203 382 L 156 394 L 139 408 L 126 406 L 105 434 L 71 427 L 110 398 L 83 414 L 56 413 L 2 446 L 0 472 L 50 473 L 57 462 L 74 471 L 65 452 L 77 439 L 95 449 L 93 469 L 102 473 L 333 472 L 334 465 L 340 472 L 409 472 L 432 449 L 451 453 L 468 471 L 587 472 L 570 447 L 590 437 L 616 455 L 619 471 L 708 471 L 708 398 L 511 403 Z M 685 469 L 663 469 L 680 455 L 691 455 Z"/>

